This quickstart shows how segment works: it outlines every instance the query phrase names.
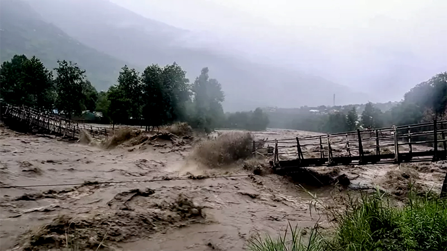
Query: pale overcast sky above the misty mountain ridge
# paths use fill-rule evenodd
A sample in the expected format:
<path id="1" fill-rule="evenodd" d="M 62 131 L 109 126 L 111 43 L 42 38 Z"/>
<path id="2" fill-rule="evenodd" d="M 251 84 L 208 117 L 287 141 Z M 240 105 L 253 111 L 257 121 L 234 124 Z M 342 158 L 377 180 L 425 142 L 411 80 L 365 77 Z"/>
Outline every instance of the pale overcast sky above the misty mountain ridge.
<path id="1" fill-rule="evenodd" d="M 447 0 L 111 1 L 222 50 L 371 91 L 377 102 L 447 70 Z"/>

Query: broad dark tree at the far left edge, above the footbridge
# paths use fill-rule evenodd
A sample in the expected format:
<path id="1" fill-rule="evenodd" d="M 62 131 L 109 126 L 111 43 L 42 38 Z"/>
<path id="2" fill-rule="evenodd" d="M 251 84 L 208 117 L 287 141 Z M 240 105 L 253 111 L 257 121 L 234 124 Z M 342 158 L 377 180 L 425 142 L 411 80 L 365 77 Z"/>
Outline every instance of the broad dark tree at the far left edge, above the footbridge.
<path id="1" fill-rule="evenodd" d="M 17 106 L 53 109 L 55 88 L 51 71 L 36 57 L 15 55 L 0 67 L 0 97 Z"/>

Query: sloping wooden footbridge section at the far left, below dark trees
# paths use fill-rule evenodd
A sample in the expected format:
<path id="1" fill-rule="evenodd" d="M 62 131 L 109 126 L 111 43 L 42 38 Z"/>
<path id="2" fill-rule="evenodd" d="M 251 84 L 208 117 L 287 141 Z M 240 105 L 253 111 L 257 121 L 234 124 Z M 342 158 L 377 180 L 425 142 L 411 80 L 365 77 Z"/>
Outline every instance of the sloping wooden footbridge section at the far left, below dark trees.
<path id="1" fill-rule="evenodd" d="M 16 107 L 1 104 L 1 120 L 10 125 L 22 127 L 25 130 L 38 129 L 46 133 L 54 133 L 68 138 L 79 138 L 81 130 L 90 133 L 93 138 L 108 138 L 113 135 L 113 129 L 85 125 L 56 115 L 39 112 L 30 107 Z"/>

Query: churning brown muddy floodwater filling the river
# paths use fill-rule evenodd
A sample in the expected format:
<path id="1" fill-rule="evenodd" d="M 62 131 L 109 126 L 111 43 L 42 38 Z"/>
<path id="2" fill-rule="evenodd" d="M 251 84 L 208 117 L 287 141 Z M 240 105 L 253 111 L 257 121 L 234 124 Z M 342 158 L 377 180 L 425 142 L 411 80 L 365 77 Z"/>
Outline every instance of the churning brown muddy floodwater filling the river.
<path id="1" fill-rule="evenodd" d="M 312 134 L 273 129 L 253 133 L 259 139 Z M 312 198 L 294 179 L 242 176 L 253 172 L 241 163 L 200 166 L 190 158 L 194 140 L 148 142 L 104 149 L 2 127 L 1 186 L 48 186 L 1 188 L 0 250 L 29 248 L 23 246 L 26 238 L 37 250 L 68 244 L 95 250 L 102 241 L 106 250 L 243 250 L 254 235 L 276 235 L 289 222 L 308 229 L 319 220 L 322 228 L 330 228 L 326 218 L 310 214 Z M 338 167 L 337 175 L 345 174 L 349 187 L 302 185 L 323 201 L 334 192 L 358 192 L 355 186 L 377 185 L 401 195 L 410 178 L 421 189 L 438 191 L 446 167 L 446 162 Z M 154 181 L 131 183 L 149 180 Z M 50 186 L 64 184 L 69 185 Z M 53 232 L 30 239 L 30 231 L 48 224 Z M 82 243 L 71 243 L 76 235 L 85 236 Z"/>

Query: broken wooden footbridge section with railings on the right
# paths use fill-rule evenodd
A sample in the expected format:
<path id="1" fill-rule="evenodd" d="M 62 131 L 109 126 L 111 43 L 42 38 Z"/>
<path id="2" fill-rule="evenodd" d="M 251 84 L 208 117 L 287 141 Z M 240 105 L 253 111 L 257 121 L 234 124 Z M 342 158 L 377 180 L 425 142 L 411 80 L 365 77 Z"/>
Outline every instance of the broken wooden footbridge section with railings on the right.
<path id="1" fill-rule="evenodd" d="M 308 166 L 365 165 L 447 159 L 447 121 L 326 135 L 254 141 L 253 153 L 273 155 L 281 172 Z M 266 148 L 266 143 L 274 147 Z"/>

